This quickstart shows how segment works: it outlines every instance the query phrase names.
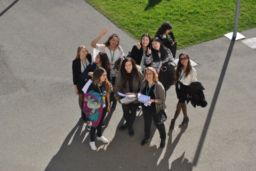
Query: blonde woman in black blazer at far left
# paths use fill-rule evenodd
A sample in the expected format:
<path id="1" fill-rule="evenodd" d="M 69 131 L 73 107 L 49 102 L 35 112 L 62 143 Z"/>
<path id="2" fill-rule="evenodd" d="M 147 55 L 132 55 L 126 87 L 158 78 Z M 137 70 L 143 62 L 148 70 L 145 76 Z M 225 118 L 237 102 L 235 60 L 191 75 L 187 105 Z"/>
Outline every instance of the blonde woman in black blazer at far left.
<path id="1" fill-rule="evenodd" d="M 82 88 L 86 84 L 85 80 L 81 79 L 81 74 L 85 70 L 87 64 L 92 62 L 92 56 L 85 46 L 78 46 L 76 58 L 72 63 L 73 72 L 73 83 L 75 87 L 75 94 L 78 95 L 78 103 L 81 109 L 81 115 L 84 121 L 86 120 L 85 114 L 83 112 L 84 108 L 84 92 Z"/>

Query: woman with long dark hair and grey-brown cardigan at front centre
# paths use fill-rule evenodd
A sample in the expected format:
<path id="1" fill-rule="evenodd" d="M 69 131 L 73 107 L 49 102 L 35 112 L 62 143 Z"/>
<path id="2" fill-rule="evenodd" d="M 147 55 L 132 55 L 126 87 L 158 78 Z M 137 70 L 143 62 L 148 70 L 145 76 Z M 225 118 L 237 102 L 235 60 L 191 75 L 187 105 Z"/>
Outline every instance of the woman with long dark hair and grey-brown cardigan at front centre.
<path id="1" fill-rule="evenodd" d="M 115 98 L 116 101 L 119 101 L 119 103 L 122 104 L 125 118 L 125 124 L 119 128 L 119 131 L 124 131 L 129 127 L 130 136 L 134 135 L 132 125 L 136 117 L 137 107 L 140 105 L 137 97 L 143 79 L 143 74 L 140 71 L 139 66 L 136 66 L 136 62 L 132 58 L 125 58 L 122 61 L 120 71 L 116 77 Z M 130 97 L 122 99 L 123 96 L 119 95 L 118 92 L 125 95 L 134 95 L 133 97 L 136 98 L 136 100 L 133 99 L 134 101 L 129 101 L 129 99 L 132 99 Z M 125 102 L 122 103 L 122 101 Z"/>

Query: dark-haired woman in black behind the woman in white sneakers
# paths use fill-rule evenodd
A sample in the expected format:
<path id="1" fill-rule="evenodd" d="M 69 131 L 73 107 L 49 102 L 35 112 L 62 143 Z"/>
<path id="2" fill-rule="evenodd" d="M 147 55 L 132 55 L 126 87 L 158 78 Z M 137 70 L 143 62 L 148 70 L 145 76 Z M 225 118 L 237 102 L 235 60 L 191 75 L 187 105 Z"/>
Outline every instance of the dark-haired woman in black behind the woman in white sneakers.
<path id="1" fill-rule="evenodd" d="M 82 74 L 82 79 L 85 80 L 85 82 L 87 83 L 88 80 L 92 78 L 94 70 L 100 67 L 106 70 L 108 81 L 111 83 L 111 79 L 112 79 L 110 77 L 111 63 L 109 62 L 108 55 L 105 52 L 99 52 L 94 62 L 91 62 L 86 67 L 86 69 Z M 89 123 L 90 122 L 87 121 L 87 129 L 89 129 L 90 131 L 91 126 L 89 126 L 90 125 Z M 105 127 L 105 124 L 103 122 L 102 122 L 102 127 Z"/>

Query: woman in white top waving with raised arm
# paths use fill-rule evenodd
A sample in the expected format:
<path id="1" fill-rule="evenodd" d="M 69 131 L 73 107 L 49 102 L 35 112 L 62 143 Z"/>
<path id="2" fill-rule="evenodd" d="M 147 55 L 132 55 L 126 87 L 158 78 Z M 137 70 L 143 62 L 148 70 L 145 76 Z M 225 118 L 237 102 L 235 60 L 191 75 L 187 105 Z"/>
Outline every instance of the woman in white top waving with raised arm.
<path id="1" fill-rule="evenodd" d="M 114 33 L 108 37 L 105 43 L 97 44 L 101 37 L 105 36 L 107 33 L 107 29 L 103 28 L 100 31 L 100 34 L 97 38 L 93 40 L 91 46 L 95 48 L 96 51 L 105 52 L 108 55 L 108 59 L 111 63 L 111 71 L 110 76 L 112 77 L 112 87 L 115 88 L 115 81 L 118 71 L 114 68 L 115 62 L 119 60 L 119 58 L 124 57 L 124 52 L 120 43 L 120 37 L 118 34 Z M 111 105 L 111 109 L 116 109 L 116 100 L 114 98 L 113 104 Z"/>

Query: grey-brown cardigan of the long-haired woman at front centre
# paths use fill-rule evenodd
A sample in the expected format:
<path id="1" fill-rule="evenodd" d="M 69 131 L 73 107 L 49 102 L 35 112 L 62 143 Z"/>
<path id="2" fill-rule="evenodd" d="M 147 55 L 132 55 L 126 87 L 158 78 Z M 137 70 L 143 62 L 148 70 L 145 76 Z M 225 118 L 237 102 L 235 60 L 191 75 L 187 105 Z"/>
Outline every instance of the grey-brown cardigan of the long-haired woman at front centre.
<path id="1" fill-rule="evenodd" d="M 138 74 L 139 74 L 139 77 L 138 77 L 139 81 L 138 81 L 137 78 L 133 79 L 133 82 L 132 82 L 132 91 L 133 92 L 130 92 L 129 83 L 128 82 L 126 83 L 126 88 L 125 89 L 122 87 L 122 80 L 121 80 L 122 75 L 121 75 L 121 72 L 118 72 L 118 75 L 116 77 L 116 84 L 115 84 L 115 99 L 116 99 L 116 101 L 119 101 L 119 103 L 121 103 L 120 102 L 120 97 L 121 96 L 117 92 L 123 93 L 123 94 L 125 94 L 125 93 L 135 93 L 136 94 L 136 98 L 138 98 L 137 91 L 138 91 L 138 89 L 140 89 L 141 82 L 144 79 L 144 75 L 142 74 L 141 71 L 139 71 Z M 140 103 L 140 102 L 138 101 L 138 99 L 136 99 L 132 103 Z"/>

